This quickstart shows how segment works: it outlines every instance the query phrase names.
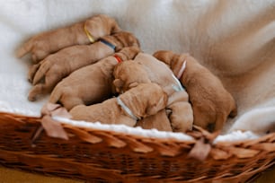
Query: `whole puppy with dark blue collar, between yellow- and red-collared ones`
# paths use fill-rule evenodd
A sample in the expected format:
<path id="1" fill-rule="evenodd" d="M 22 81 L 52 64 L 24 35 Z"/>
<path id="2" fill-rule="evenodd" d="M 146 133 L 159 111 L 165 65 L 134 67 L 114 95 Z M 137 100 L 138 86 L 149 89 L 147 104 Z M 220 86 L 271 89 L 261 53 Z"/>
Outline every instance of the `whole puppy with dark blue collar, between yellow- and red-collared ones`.
<path id="1" fill-rule="evenodd" d="M 120 31 L 104 36 L 91 45 L 76 45 L 49 55 L 31 67 L 29 80 L 34 86 L 29 93 L 29 100 L 36 100 L 38 95 L 51 92 L 59 81 L 75 70 L 131 46 L 139 47 L 137 38 L 129 32 Z"/>

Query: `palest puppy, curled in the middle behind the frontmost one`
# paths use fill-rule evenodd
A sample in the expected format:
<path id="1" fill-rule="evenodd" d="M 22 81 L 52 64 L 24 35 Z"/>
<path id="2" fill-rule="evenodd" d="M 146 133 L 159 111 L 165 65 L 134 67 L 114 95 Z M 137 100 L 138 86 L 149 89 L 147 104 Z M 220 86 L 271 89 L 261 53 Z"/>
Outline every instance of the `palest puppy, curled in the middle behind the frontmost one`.
<path id="1" fill-rule="evenodd" d="M 193 113 L 188 94 L 167 65 L 151 55 L 139 53 L 134 61 L 129 60 L 116 65 L 113 75 L 117 92 L 128 91 L 138 83 L 158 83 L 168 95 L 165 109 L 170 111 L 168 118 L 173 132 L 191 130 Z"/>

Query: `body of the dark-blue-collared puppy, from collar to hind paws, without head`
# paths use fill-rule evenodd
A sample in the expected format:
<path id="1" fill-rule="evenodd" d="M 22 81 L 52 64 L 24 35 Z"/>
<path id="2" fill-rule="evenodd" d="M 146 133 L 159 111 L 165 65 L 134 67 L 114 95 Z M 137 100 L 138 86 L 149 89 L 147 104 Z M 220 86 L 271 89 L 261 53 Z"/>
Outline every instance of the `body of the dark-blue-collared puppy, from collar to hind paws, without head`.
<path id="1" fill-rule="evenodd" d="M 51 92 L 68 74 L 85 65 L 93 64 L 102 57 L 110 56 L 113 52 L 112 48 L 97 42 L 93 45 L 64 48 L 46 57 L 39 65 L 33 66 L 29 73 L 29 80 L 34 85 L 29 100 L 36 100 L 38 95 Z"/>

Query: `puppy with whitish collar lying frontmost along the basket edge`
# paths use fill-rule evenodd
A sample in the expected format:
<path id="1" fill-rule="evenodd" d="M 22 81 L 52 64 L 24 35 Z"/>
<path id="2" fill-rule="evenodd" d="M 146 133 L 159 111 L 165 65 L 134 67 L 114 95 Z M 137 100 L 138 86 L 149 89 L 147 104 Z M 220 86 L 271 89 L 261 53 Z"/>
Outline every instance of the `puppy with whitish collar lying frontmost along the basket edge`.
<path id="1" fill-rule="evenodd" d="M 139 118 L 146 118 L 164 109 L 167 94 L 156 83 L 140 83 L 117 98 L 91 106 L 79 105 L 70 110 L 75 120 L 102 124 L 135 126 Z"/>

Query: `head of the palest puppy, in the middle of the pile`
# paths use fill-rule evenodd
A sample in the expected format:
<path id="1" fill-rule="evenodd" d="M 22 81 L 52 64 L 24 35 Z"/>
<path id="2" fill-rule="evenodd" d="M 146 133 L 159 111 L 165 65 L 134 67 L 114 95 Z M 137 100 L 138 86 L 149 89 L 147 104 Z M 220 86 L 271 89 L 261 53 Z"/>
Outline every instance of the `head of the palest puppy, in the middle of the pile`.
<path id="1" fill-rule="evenodd" d="M 116 65 L 113 76 L 113 85 L 117 92 L 126 92 L 138 83 L 151 83 L 144 67 L 133 60 Z"/>

